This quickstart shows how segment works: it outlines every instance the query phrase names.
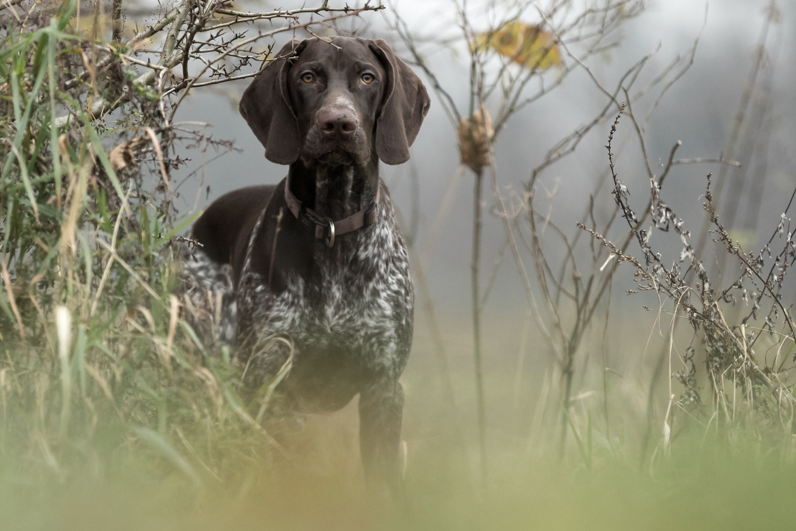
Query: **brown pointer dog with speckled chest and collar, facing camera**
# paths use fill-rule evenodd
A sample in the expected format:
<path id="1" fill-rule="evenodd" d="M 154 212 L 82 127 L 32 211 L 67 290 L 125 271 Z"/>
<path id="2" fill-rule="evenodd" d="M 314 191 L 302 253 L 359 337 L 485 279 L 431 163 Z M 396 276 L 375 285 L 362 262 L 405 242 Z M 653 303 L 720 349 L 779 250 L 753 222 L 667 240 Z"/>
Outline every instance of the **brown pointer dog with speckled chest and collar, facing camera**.
<path id="1" fill-rule="evenodd" d="M 224 311 L 236 322 L 221 335 L 235 338 L 245 388 L 256 398 L 290 360 L 278 389 L 291 411 L 336 411 L 358 394 L 365 478 L 393 489 L 414 293 L 379 162 L 408 160 L 429 105 L 384 41 L 287 43 L 240 100 L 287 178 L 227 193 L 193 225 L 194 271 L 233 287 Z"/>

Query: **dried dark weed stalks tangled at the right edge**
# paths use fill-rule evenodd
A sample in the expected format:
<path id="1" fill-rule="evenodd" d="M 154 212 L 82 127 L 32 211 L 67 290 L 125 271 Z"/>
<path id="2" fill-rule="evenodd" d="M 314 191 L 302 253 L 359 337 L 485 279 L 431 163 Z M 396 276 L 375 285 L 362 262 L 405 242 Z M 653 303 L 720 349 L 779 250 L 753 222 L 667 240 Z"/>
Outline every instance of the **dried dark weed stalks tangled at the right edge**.
<path id="1" fill-rule="evenodd" d="M 624 106 L 622 106 L 622 111 L 624 111 Z M 775 265 L 782 261 L 782 264 L 778 266 L 780 275 L 774 275 L 774 267 L 772 267 L 769 275 L 764 277 L 762 271 L 763 252 L 760 252 L 759 256 L 743 252 L 739 245 L 733 244 L 728 232 L 724 229 L 724 226 L 720 224 L 718 217 L 716 217 L 716 209 L 712 202 L 712 174 L 708 174 L 704 209 L 708 212 L 710 221 L 715 227 L 714 232 L 718 235 L 717 241 L 724 244 L 727 252 L 732 256 L 736 256 L 745 268 L 744 274 L 733 283 L 731 287 L 724 290 L 717 289 L 713 287 L 712 281 L 708 278 L 707 271 L 705 271 L 700 260 L 694 256 L 694 249 L 689 243 L 690 232 L 683 229 L 683 221 L 677 218 L 673 211 L 661 200 L 660 182 L 653 177 L 650 181 L 651 206 L 649 210 L 653 218 L 653 225 L 655 228 L 662 231 L 668 231 L 669 228 L 673 228 L 674 231 L 681 236 L 681 240 L 684 244 L 679 262 L 683 262 L 686 259 L 690 260 L 689 268 L 686 271 L 681 271 L 681 268 L 677 265 L 677 261 L 674 261 L 671 266 L 666 267 L 662 262 L 661 253 L 654 252 L 650 247 L 650 235 L 639 228 L 640 220 L 630 207 L 629 190 L 626 185 L 618 180 L 617 174 L 615 173 L 614 155 L 611 150 L 611 143 L 614 139 L 616 127 L 621 115 L 622 112 L 617 115 L 615 122 L 612 124 L 611 133 L 608 137 L 608 144 L 606 146 L 611 175 L 614 180 L 614 190 L 612 193 L 615 196 L 615 201 L 619 209 L 622 211 L 622 217 L 626 219 L 630 227 L 630 232 L 638 241 L 642 254 L 645 257 L 645 264 L 641 264 L 634 256 L 626 254 L 624 246 L 620 248 L 610 240 L 607 240 L 607 238 L 599 232 L 587 228 L 582 223 L 578 223 L 577 226 L 589 232 L 591 236 L 609 248 L 611 250 L 611 255 L 617 260 L 617 264 L 628 262 L 635 267 L 635 282 L 638 284 L 640 290 L 656 291 L 659 295 L 663 295 L 665 298 L 683 306 L 685 316 L 693 326 L 694 334 L 700 334 L 701 330 L 707 355 L 708 375 L 710 381 L 714 383 L 713 391 L 717 395 L 723 396 L 723 391 L 718 388 L 716 382 L 722 381 L 725 374 L 730 371 L 736 373 L 737 376 L 734 378 L 734 381 L 740 382 L 740 385 L 744 388 L 744 392 L 754 393 L 754 382 L 757 381 L 759 385 L 762 385 L 764 388 L 774 393 L 777 399 L 784 399 L 793 407 L 796 405 L 796 400 L 794 400 L 790 389 L 782 383 L 779 373 L 781 366 L 778 368 L 776 366 L 763 365 L 759 361 L 759 358 L 755 356 L 755 351 L 751 347 L 754 345 L 757 338 L 755 337 L 754 331 L 747 334 L 748 317 L 744 318 L 740 325 L 730 326 L 724 317 L 725 312 L 721 307 L 722 303 L 730 303 L 732 305 L 736 303 L 735 297 L 730 294 L 731 290 L 743 290 L 743 300 L 747 301 L 747 303 L 750 301 L 751 298 L 747 295 L 749 292 L 747 291 L 748 288 L 743 287 L 744 280 L 748 279 L 748 282 L 759 291 L 758 298 L 753 303 L 752 316 L 755 316 L 754 308 L 759 307 L 759 300 L 761 300 L 763 296 L 766 296 L 767 299 L 771 300 L 772 311 L 769 313 L 769 316 L 765 318 L 766 326 L 764 326 L 764 328 L 767 327 L 771 334 L 776 333 L 783 338 L 790 338 L 790 340 L 793 341 L 793 338 L 796 338 L 794 322 L 790 318 L 788 310 L 782 304 L 781 296 L 779 295 L 780 288 L 782 287 L 782 277 L 785 275 L 786 268 L 796 260 L 796 242 L 792 240 L 793 235 L 790 232 L 788 233 L 784 248 L 782 252 L 778 254 L 778 259 L 775 260 Z M 676 147 L 677 145 L 669 157 L 667 168 L 671 165 Z M 794 194 L 796 194 L 796 191 L 794 191 Z M 788 206 L 790 207 L 790 205 Z M 786 218 L 786 215 L 782 214 L 782 221 L 777 230 L 775 230 L 775 235 L 777 233 L 780 236 L 782 235 L 786 221 L 788 223 L 790 222 L 790 220 Z M 773 238 L 774 236 L 772 236 L 771 240 L 773 240 Z M 771 240 L 769 243 L 771 243 Z M 787 263 L 788 258 L 790 258 L 790 264 Z M 699 280 L 695 287 L 686 283 L 686 275 L 690 270 L 696 271 Z M 641 284 L 639 281 L 646 283 Z M 693 299 L 696 299 L 696 303 L 692 302 Z M 784 325 L 790 334 L 783 334 L 782 332 L 775 332 L 774 330 L 775 324 L 771 322 L 770 316 L 771 313 L 778 314 L 779 311 L 783 314 Z M 696 388 L 696 377 L 694 377 L 695 366 L 693 365 L 693 352 L 689 352 L 684 362 L 686 361 L 692 365 L 691 369 L 689 369 L 689 374 L 686 375 L 685 373 L 678 372 L 673 373 L 672 376 L 677 377 L 685 386 L 685 390 L 681 395 L 681 405 L 698 404 L 700 400 L 699 392 Z M 747 368 L 752 369 L 751 374 L 753 376 L 747 373 Z"/>

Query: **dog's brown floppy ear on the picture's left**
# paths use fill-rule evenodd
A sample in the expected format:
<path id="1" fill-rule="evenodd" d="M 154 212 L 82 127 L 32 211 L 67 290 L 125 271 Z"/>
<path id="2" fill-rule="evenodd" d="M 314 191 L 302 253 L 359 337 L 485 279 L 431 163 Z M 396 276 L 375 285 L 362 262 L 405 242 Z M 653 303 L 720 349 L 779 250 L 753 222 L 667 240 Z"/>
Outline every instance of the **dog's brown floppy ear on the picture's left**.
<path id="1" fill-rule="evenodd" d="M 291 164 L 301 151 L 298 121 L 287 92 L 287 71 L 295 57 L 306 48 L 306 41 L 284 45 L 240 98 L 240 115 L 265 147 L 265 157 L 277 164 Z"/>

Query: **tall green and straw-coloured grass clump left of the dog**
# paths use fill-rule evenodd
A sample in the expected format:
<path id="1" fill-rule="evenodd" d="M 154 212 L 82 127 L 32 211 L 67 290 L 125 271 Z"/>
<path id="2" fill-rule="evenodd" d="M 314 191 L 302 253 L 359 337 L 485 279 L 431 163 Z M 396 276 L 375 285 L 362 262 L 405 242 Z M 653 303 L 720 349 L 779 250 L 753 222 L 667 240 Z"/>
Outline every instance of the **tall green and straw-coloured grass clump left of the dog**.
<path id="1" fill-rule="evenodd" d="M 119 87 L 68 88 L 87 45 L 66 31 L 75 9 L 0 42 L 0 475 L 60 484 L 130 453 L 200 482 L 225 445 L 267 456 L 271 443 L 237 398 L 228 350 L 211 355 L 186 321 L 175 236 L 195 215 L 178 216 L 166 174 L 147 187 L 106 148 L 155 125 L 158 96 L 119 65 L 133 112 L 123 128 L 92 124 L 85 99 Z M 78 123 L 55 127 L 68 108 Z"/>

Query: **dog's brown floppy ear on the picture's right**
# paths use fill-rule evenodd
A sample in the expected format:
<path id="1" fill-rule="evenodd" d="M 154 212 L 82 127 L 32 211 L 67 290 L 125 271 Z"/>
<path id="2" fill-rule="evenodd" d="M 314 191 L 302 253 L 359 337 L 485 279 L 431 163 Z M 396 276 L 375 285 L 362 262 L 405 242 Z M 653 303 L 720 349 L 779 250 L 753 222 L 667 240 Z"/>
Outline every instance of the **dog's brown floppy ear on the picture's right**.
<path id="1" fill-rule="evenodd" d="M 376 123 L 376 153 L 386 164 L 401 164 L 409 160 L 409 146 L 415 142 L 431 100 L 420 78 L 386 42 L 371 41 L 369 48 L 387 72 Z"/>

